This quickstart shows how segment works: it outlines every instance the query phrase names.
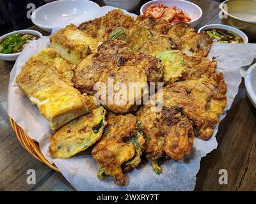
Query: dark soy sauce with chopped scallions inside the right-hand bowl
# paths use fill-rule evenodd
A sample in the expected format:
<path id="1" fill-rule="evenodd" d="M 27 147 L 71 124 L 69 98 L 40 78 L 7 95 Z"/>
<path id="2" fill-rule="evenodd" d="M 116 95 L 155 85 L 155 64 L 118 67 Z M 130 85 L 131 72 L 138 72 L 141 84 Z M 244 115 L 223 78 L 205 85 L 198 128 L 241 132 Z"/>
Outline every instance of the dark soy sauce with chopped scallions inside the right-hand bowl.
<path id="1" fill-rule="evenodd" d="M 224 29 L 209 29 L 204 32 L 206 32 L 214 42 L 244 43 L 243 39 L 239 35 Z"/>

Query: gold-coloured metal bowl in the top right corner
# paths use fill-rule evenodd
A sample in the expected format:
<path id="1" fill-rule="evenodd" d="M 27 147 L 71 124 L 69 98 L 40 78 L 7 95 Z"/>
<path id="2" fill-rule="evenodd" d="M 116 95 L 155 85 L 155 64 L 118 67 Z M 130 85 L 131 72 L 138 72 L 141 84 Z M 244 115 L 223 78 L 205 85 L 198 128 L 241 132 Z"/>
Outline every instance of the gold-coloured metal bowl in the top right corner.
<path id="1" fill-rule="evenodd" d="M 250 40 L 256 40 L 256 1 L 227 0 L 220 4 L 222 24 L 240 29 Z"/>

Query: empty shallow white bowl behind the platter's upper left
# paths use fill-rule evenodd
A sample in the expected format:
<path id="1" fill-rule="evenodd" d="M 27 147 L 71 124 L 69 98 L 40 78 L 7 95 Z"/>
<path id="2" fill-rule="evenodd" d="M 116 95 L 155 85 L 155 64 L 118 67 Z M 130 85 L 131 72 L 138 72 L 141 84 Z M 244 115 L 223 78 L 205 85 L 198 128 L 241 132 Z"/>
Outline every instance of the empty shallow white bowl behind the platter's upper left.
<path id="1" fill-rule="evenodd" d="M 44 31 L 51 32 L 56 27 L 64 27 L 73 18 L 99 8 L 97 3 L 87 0 L 53 1 L 37 8 L 31 20 Z"/>

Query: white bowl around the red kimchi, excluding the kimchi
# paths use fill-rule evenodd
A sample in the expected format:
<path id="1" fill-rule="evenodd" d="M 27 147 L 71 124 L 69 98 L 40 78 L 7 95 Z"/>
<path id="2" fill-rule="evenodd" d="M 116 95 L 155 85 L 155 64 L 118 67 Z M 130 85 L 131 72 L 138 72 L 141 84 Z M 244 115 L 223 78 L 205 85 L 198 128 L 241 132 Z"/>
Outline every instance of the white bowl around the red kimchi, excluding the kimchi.
<path id="1" fill-rule="evenodd" d="M 189 14 L 189 16 L 192 18 L 191 22 L 188 23 L 192 27 L 196 27 L 196 25 L 200 23 L 201 17 L 203 15 L 203 11 L 199 6 L 184 0 L 149 1 L 148 3 L 145 3 L 143 4 L 143 6 L 141 6 L 140 14 L 143 15 L 143 12 L 147 10 L 148 6 L 151 6 L 152 4 L 156 4 L 156 5 L 164 4 L 165 6 L 177 6 L 177 8 L 180 8 L 181 10 L 186 11 Z"/>

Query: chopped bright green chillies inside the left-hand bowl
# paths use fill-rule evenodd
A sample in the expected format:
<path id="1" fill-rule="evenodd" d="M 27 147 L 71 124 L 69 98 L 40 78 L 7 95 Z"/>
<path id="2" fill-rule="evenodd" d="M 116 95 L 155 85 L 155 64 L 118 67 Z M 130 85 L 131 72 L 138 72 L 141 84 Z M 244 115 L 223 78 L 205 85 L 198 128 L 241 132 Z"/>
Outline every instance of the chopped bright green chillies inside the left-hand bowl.
<path id="1" fill-rule="evenodd" d="M 0 53 L 14 54 L 21 52 L 31 40 L 38 39 L 35 34 L 12 34 L 0 42 Z"/>

